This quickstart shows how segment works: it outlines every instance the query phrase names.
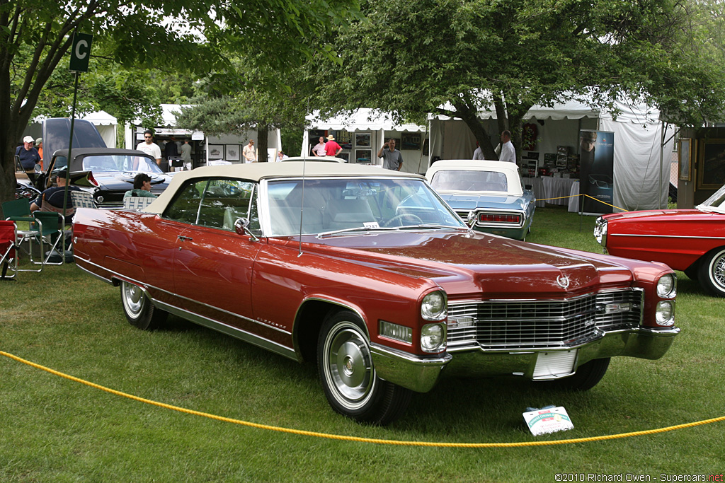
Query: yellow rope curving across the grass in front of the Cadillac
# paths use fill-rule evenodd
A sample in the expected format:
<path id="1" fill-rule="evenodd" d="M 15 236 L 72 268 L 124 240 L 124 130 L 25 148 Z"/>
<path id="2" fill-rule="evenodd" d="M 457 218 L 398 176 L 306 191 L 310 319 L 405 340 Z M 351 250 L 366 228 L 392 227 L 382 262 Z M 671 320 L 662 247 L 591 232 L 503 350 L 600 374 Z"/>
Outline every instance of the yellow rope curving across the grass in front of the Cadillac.
<path id="1" fill-rule="evenodd" d="M 203 416 L 205 418 L 215 419 L 217 421 L 223 421 L 233 424 L 241 424 L 242 426 L 253 427 L 258 429 L 268 429 L 269 431 L 283 432 L 289 434 L 299 434 L 302 436 L 321 437 L 328 440 L 341 440 L 341 441 L 355 441 L 355 442 L 369 442 L 378 445 L 399 445 L 399 446 L 424 446 L 432 448 L 521 448 L 523 446 L 549 446 L 549 445 L 570 445 L 576 442 L 592 442 L 592 441 L 605 441 L 605 440 L 616 440 L 624 437 L 642 436 L 644 434 L 658 434 L 668 431 L 674 431 L 675 429 L 691 428 L 695 426 L 702 426 L 703 424 L 711 424 L 720 421 L 725 421 L 725 416 L 713 419 L 705 419 L 703 421 L 695 421 L 693 423 L 677 424 L 676 426 L 670 426 L 659 429 L 649 429 L 646 431 L 635 431 L 620 434 L 607 434 L 605 436 L 593 436 L 593 437 L 581 437 L 572 440 L 555 440 L 555 441 L 529 441 L 529 442 L 426 442 L 426 441 L 396 441 L 396 440 L 379 440 L 376 438 L 357 437 L 357 436 L 342 436 L 341 434 L 328 434 L 314 431 L 304 431 L 302 429 L 289 429 L 278 426 L 269 426 L 268 424 L 257 424 L 249 421 L 241 421 L 240 419 L 225 418 L 223 416 L 216 416 L 215 414 L 202 413 L 201 411 L 194 411 L 191 409 L 180 408 L 179 406 L 171 406 L 170 404 L 157 403 L 154 400 L 139 398 L 138 396 L 127 394 L 126 392 L 120 392 L 117 390 L 110 389 L 101 385 L 88 382 L 78 377 L 73 377 L 62 372 L 55 371 L 40 364 L 26 361 L 20 357 L 14 356 L 10 353 L 3 352 L 0 350 L 0 355 L 13 359 L 14 361 L 22 362 L 28 366 L 41 369 L 42 371 L 49 372 L 59 377 L 63 377 L 73 382 L 80 382 L 86 386 L 94 387 L 101 391 L 109 392 L 123 398 L 133 399 L 141 403 L 151 404 L 152 406 L 158 406 L 159 408 L 170 409 L 172 411 L 178 411 L 180 413 L 193 414 L 194 416 Z"/>

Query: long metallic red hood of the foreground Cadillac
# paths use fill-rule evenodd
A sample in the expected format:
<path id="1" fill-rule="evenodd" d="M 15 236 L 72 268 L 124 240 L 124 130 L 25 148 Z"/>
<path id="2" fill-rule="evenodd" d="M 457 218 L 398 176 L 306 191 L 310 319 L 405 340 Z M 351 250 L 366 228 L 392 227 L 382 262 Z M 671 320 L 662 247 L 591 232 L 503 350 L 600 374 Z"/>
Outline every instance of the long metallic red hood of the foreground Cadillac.
<path id="1" fill-rule="evenodd" d="M 320 240 L 318 240 L 320 241 Z M 325 256 L 426 277 L 457 298 L 526 298 L 576 295 L 592 285 L 621 287 L 632 272 L 616 257 L 560 250 L 485 233 L 412 232 L 341 236 L 322 240 Z M 365 245 L 362 245 L 364 242 Z M 294 243 L 294 241 L 290 241 Z M 350 250 L 350 248 L 355 248 Z"/>

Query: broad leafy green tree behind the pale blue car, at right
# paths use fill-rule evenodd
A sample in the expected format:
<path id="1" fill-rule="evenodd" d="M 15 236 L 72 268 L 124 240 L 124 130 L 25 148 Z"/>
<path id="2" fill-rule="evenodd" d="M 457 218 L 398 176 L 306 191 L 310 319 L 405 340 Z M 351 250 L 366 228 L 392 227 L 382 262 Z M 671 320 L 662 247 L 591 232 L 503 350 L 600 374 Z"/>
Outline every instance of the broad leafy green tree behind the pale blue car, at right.
<path id="1" fill-rule="evenodd" d="M 365 18 L 336 36 L 343 67 L 328 66 L 316 104 L 330 114 L 368 106 L 400 120 L 431 112 L 460 117 L 486 159 L 496 159 L 494 136 L 476 115 L 481 108 L 496 110 L 499 130 L 510 129 L 517 147 L 531 106 L 567 96 L 600 107 L 618 96 L 644 98 L 682 122 L 702 122 L 725 99 L 722 51 L 703 28 L 702 5 L 370 0 Z M 698 55 L 696 46 L 708 54 Z"/>

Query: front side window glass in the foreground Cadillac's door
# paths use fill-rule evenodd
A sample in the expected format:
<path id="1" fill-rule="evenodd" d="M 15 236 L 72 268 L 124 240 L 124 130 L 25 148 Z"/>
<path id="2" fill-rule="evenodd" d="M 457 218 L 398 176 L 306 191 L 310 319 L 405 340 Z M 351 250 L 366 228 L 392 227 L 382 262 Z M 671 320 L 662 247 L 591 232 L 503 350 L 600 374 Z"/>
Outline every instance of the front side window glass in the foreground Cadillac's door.
<path id="1" fill-rule="evenodd" d="M 212 179 L 207 183 L 199 204 L 196 223 L 205 227 L 234 231 L 234 222 L 249 218 L 249 201 L 254 183 L 241 180 Z"/>

